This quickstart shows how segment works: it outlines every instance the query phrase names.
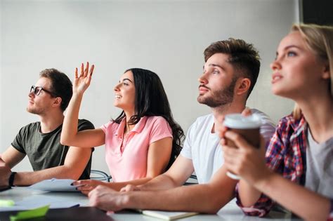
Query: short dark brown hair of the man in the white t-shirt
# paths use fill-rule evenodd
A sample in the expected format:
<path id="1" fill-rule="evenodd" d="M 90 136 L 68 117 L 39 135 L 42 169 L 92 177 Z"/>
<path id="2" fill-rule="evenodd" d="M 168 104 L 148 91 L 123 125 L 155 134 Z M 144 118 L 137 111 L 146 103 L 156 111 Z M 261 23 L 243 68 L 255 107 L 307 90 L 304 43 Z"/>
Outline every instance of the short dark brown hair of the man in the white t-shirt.
<path id="1" fill-rule="evenodd" d="M 204 61 L 207 62 L 216 53 L 229 55 L 228 62 L 239 71 L 239 76 L 250 79 L 251 85 L 247 93 L 247 98 L 249 98 L 260 70 L 260 56 L 256 48 L 252 43 L 247 43 L 242 39 L 229 38 L 228 40 L 216 41 L 204 50 Z"/>

